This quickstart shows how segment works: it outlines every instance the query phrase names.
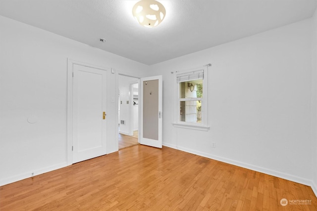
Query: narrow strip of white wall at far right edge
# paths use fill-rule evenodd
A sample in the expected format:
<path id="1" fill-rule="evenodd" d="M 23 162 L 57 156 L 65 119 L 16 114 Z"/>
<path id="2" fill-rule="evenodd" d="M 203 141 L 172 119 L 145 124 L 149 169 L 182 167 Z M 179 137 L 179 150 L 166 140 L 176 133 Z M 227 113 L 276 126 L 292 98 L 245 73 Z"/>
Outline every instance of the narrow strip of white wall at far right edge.
<path id="1" fill-rule="evenodd" d="M 317 195 L 317 10 L 312 19 L 312 188 Z"/>

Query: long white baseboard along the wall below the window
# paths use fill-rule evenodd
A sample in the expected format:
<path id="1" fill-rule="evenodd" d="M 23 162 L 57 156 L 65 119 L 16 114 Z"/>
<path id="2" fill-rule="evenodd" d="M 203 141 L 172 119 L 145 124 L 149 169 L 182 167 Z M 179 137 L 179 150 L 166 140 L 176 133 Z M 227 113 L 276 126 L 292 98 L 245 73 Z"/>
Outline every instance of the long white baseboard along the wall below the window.
<path id="1" fill-rule="evenodd" d="M 315 195 L 317 193 L 317 188 L 316 188 L 317 186 L 315 185 L 315 187 L 313 187 L 312 181 L 309 180 L 309 179 L 303 178 L 303 177 L 298 177 L 298 176 L 287 174 L 287 173 L 284 173 L 284 172 L 281 172 L 281 171 L 276 171 L 276 170 L 272 170 L 272 169 L 266 169 L 266 168 L 254 166 L 254 165 L 251 165 L 251 164 L 247 164 L 247 163 L 234 161 L 234 160 L 223 158 L 223 157 L 219 157 L 219 156 L 214 156 L 214 155 L 211 155 L 209 153 L 204 153 L 204 152 L 200 152 L 200 151 L 196 151 L 196 150 L 192 150 L 192 149 L 188 149 L 188 148 L 184 148 L 184 147 L 177 147 L 177 146 L 166 144 L 166 143 L 164 143 L 163 145 L 167 146 L 167 147 L 170 147 L 170 148 L 173 148 L 173 149 L 178 149 L 178 150 L 181 150 L 181 151 L 184 151 L 184 152 L 188 152 L 188 153 L 191 153 L 191 154 L 194 154 L 194 155 L 199 155 L 199 156 L 202 156 L 202 157 L 210 158 L 212 160 L 224 162 L 224 163 L 231 164 L 231 165 L 238 166 L 238 167 L 242 167 L 242 168 L 245 168 L 245 169 L 255 170 L 255 171 L 258 171 L 258 172 L 261 172 L 261 173 L 265 173 L 265 174 L 269 174 L 269 175 L 272 175 L 272 176 L 280 177 L 282 179 L 287 179 L 287 180 L 290 180 L 290 181 L 293 181 L 293 182 L 297 182 L 297 183 L 300 183 L 300 184 L 308 185 L 308 186 L 312 187 Z"/>

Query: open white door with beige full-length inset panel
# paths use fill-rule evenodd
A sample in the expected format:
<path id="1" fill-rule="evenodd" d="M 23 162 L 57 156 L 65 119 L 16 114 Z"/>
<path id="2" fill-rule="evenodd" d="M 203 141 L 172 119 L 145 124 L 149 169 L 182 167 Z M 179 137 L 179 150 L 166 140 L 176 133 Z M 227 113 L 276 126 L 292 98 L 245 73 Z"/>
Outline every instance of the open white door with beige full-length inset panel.
<path id="1" fill-rule="evenodd" d="M 140 144 L 162 148 L 162 76 L 141 78 Z"/>

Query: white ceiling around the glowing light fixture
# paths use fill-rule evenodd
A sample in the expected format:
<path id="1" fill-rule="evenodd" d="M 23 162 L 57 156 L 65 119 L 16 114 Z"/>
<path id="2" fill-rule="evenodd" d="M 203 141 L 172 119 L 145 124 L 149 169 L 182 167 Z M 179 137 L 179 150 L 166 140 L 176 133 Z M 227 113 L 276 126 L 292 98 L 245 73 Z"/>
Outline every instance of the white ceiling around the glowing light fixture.
<path id="1" fill-rule="evenodd" d="M 152 65 L 312 17 L 317 7 L 317 0 L 159 0 L 165 19 L 146 28 L 132 16 L 137 1 L 0 0 L 0 15 Z"/>

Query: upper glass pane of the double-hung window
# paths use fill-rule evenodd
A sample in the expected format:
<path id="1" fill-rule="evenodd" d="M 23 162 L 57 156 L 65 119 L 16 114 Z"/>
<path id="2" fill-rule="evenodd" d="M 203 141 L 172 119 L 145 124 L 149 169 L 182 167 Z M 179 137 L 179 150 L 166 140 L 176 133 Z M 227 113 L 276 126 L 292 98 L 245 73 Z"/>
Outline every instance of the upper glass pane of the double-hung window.
<path id="1" fill-rule="evenodd" d="M 203 80 L 187 81 L 179 83 L 179 98 L 203 97 Z"/>

